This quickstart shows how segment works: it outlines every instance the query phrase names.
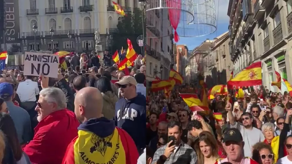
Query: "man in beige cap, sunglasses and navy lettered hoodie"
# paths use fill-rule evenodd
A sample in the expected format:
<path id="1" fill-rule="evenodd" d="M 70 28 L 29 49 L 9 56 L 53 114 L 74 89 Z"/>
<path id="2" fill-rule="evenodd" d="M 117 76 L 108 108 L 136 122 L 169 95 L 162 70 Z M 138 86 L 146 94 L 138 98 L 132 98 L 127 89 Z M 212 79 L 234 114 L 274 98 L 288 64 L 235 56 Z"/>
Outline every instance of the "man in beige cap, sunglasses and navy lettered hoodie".
<path id="1" fill-rule="evenodd" d="M 119 88 L 122 96 L 115 106 L 116 125 L 129 133 L 138 151 L 143 153 L 146 147 L 146 97 L 136 93 L 137 81 L 132 76 L 122 77 L 115 86 Z"/>

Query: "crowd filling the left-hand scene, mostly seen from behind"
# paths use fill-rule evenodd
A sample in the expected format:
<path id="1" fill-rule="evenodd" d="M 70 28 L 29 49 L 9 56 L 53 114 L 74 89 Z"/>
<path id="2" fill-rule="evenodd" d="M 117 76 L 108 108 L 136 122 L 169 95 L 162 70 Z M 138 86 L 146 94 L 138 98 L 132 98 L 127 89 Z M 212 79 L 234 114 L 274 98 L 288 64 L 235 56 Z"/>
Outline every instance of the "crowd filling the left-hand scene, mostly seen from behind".
<path id="1" fill-rule="evenodd" d="M 145 59 L 66 58 L 58 78 L 0 75 L 0 163 L 136 164 L 146 147 Z M 6 122 L 5 122 L 6 121 Z"/>

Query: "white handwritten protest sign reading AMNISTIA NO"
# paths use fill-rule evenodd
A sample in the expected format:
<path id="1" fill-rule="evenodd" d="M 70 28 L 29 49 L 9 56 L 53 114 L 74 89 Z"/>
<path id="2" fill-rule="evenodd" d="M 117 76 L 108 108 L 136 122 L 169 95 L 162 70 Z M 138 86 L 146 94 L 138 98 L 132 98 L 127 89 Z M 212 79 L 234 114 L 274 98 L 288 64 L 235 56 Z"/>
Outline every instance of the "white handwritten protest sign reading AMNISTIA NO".
<path id="1" fill-rule="evenodd" d="M 59 56 L 46 53 L 25 52 L 24 75 L 58 77 Z"/>

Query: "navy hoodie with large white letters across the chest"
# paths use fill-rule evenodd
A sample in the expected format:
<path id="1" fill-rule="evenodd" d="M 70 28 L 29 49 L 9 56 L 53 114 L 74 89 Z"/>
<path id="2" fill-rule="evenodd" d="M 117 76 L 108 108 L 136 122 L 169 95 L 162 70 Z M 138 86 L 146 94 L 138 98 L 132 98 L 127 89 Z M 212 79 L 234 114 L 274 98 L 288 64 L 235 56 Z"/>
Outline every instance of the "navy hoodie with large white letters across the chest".
<path id="1" fill-rule="evenodd" d="M 123 111 L 120 113 L 120 111 Z M 120 114 L 122 119 L 120 120 Z M 115 121 L 133 138 L 138 150 L 146 147 L 146 97 L 138 93 L 136 97 L 126 100 L 121 98 L 115 106 Z"/>

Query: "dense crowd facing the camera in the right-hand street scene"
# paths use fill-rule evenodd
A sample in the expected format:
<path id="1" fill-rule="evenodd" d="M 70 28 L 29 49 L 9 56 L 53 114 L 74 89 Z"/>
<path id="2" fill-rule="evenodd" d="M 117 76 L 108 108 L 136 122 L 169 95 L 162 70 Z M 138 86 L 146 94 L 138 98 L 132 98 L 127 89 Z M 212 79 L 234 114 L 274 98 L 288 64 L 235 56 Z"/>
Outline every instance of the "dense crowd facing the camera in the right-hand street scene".
<path id="1" fill-rule="evenodd" d="M 180 93 L 200 95 L 200 88 L 175 86 L 170 96 L 147 93 L 147 164 L 292 163 L 288 92 L 261 86 L 241 98 L 218 94 L 208 100 L 209 112 L 191 111 Z M 218 112 L 222 119 L 214 116 Z"/>

